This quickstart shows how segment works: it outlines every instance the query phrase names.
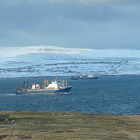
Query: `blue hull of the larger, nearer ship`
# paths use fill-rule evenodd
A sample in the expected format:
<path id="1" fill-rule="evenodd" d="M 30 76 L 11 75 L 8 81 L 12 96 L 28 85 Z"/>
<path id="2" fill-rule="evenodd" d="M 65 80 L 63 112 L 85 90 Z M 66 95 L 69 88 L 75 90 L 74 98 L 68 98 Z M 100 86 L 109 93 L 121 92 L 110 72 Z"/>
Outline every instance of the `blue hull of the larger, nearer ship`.
<path id="1" fill-rule="evenodd" d="M 16 90 L 16 94 L 28 94 L 28 95 L 39 95 L 39 94 L 68 94 L 71 90 L 71 86 L 60 88 L 57 90 L 54 89 L 23 89 L 23 90 Z"/>

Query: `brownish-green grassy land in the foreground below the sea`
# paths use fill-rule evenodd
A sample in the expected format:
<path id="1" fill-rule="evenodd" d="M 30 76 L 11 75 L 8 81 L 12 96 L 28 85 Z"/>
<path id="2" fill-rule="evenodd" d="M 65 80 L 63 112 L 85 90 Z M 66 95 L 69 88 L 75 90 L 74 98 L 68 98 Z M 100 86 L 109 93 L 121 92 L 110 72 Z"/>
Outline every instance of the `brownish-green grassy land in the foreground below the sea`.
<path id="1" fill-rule="evenodd" d="M 140 115 L 6 111 L 0 113 L 0 139 L 136 140 Z"/>

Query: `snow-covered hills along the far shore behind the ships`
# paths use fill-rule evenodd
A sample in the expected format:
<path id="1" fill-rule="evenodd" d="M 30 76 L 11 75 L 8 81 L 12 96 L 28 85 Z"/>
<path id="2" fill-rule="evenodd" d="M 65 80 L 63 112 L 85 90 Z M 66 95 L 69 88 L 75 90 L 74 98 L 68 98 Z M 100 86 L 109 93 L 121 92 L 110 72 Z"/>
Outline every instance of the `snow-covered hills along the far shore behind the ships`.
<path id="1" fill-rule="evenodd" d="M 140 50 L 77 49 L 54 46 L 0 48 L 0 76 L 140 74 Z"/>

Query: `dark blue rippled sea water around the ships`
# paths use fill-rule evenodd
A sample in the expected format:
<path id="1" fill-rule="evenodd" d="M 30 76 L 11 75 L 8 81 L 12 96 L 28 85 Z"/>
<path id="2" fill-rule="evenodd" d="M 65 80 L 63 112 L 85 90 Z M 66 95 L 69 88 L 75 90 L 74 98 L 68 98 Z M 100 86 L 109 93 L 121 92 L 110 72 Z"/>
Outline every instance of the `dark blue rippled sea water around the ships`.
<path id="1" fill-rule="evenodd" d="M 140 76 L 102 76 L 96 80 L 67 80 L 68 95 L 16 95 L 25 80 L 42 84 L 46 77 L 0 79 L 0 111 L 61 111 L 140 114 Z M 54 80 L 54 77 L 47 77 Z"/>

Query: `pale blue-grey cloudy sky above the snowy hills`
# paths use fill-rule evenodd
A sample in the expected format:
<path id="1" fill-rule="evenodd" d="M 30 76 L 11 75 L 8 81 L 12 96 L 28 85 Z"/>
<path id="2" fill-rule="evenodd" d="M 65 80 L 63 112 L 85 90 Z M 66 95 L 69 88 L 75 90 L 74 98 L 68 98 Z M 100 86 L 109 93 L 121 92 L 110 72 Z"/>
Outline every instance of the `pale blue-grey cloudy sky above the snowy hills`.
<path id="1" fill-rule="evenodd" d="M 0 47 L 140 49 L 140 0 L 1 0 Z"/>

